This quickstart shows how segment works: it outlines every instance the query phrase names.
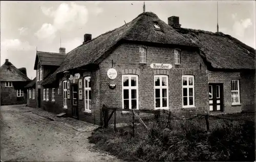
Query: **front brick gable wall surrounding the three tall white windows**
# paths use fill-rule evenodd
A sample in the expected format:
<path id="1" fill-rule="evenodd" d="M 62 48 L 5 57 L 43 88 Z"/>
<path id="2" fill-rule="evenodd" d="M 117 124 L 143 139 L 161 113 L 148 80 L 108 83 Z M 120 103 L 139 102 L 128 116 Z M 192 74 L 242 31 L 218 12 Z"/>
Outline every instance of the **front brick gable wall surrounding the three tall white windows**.
<path id="1" fill-rule="evenodd" d="M 147 63 L 139 63 L 139 47 L 146 48 Z M 197 52 L 181 49 L 181 64 L 174 65 L 174 49 L 146 47 L 138 44 L 122 44 L 108 58 L 100 63 L 100 108 L 103 104 L 108 107 L 122 108 L 122 74 L 136 74 L 139 78 L 139 108 L 154 109 L 154 75 L 168 75 L 169 108 L 175 113 L 202 113 L 208 107 L 208 78 L 206 66 Z M 110 80 L 106 75 L 109 68 L 117 71 L 117 78 Z M 154 70 L 151 63 L 172 64 L 170 70 Z M 182 75 L 195 76 L 195 108 L 182 108 Z M 109 82 L 116 84 L 115 89 L 109 88 Z M 121 121 L 127 115 L 117 114 Z M 96 117 L 99 118 L 99 117 Z M 130 118 L 130 117 L 127 117 Z M 99 120 L 99 119 L 98 119 Z"/>

